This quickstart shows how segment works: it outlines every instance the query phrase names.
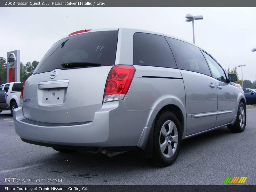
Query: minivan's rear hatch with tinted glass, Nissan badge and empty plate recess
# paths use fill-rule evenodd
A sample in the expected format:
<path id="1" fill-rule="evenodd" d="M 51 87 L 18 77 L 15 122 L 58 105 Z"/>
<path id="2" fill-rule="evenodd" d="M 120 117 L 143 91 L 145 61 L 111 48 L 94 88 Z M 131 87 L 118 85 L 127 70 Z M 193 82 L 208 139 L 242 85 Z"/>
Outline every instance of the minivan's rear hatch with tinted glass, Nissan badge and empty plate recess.
<path id="1" fill-rule="evenodd" d="M 92 121 L 115 64 L 118 31 L 86 32 L 55 43 L 26 81 L 23 114 L 45 123 Z"/>

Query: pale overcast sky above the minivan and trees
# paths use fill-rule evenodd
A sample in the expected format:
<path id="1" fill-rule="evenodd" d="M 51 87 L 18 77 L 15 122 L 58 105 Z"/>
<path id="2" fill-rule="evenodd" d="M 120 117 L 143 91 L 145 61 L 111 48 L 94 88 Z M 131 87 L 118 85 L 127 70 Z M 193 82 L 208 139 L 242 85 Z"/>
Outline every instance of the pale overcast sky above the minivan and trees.
<path id="1" fill-rule="evenodd" d="M 196 44 L 223 68 L 245 64 L 244 79 L 256 80 L 256 8 L 0 8 L 0 57 L 20 49 L 23 63 L 40 61 L 47 50 L 69 33 L 92 28 L 139 28 L 193 42 L 192 22 L 186 14 L 203 15 L 195 21 Z M 67 16 L 67 17 L 64 17 Z M 238 68 L 241 79 L 241 68 Z"/>

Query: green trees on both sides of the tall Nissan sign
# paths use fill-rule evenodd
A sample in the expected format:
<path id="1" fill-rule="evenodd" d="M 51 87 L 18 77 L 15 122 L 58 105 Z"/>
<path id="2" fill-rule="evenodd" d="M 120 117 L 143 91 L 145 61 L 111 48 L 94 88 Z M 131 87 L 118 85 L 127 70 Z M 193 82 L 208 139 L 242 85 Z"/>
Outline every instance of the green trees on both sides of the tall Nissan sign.
<path id="1" fill-rule="evenodd" d="M 25 82 L 26 79 L 32 75 L 36 66 L 38 65 L 38 61 L 33 61 L 32 63 L 28 61 L 26 64 L 20 62 L 20 81 Z M 6 59 L 0 57 L 0 85 L 7 83 L 7 68 L 6 68 Z"/>

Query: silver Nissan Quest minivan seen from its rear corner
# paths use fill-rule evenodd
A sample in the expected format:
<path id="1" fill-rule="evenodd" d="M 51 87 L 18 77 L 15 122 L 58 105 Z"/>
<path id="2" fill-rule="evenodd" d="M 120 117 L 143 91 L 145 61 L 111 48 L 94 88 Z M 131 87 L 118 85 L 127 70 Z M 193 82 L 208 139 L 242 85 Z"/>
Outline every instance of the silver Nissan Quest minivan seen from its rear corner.
<path id="1" fill-rule="evenodd" d="M 137 29 L 81 30 L 52 45 L 13 112 L 22 141 L 59 152 L 141 149 L 172 164 L 181 140 L 243 132 L 244 92 L 206 51 Z"/>

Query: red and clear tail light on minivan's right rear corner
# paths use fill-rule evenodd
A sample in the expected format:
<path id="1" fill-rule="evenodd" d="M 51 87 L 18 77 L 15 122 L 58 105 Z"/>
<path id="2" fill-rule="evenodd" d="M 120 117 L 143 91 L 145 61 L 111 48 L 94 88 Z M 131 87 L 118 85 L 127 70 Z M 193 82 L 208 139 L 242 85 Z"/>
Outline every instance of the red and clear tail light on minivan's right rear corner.
<path id="1" fill-rule="evenodd" d="M 132 65 L 115 65 L 108 74 L 104 102 L 123 100 L 136 69 Z"/>

